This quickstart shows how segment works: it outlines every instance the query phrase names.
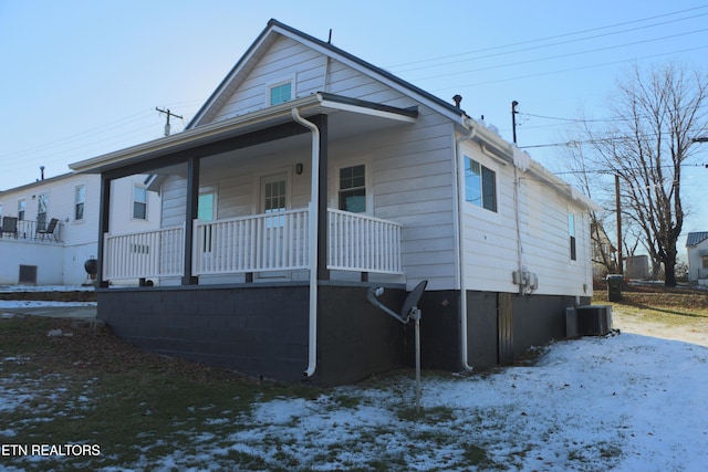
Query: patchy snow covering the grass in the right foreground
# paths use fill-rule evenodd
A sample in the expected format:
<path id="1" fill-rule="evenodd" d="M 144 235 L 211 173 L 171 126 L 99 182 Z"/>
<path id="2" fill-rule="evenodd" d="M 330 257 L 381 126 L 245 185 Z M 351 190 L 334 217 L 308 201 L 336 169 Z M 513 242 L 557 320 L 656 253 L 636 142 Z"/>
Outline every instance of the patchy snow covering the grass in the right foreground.
<path id="1" fill-rule="evenodd" d="M 451 410 L 434 423 L 396 415 L 396 406 L 413 402 L 413 381 L 342 387 L 334 395 L 362 401 L 335 409 L 332 396 L 266 402 L 252 413 L 253 428 L 225 447 L 282 465 L 268 444 L 274 437 L 292 438 L 291 453 L 313 470 L 366 463 L 383 453 L 381 443 L 388 454 L 400 450 L 407 470 L 466 470 L 455 458 L 469 443 L 520 471 L 708 466 L 708 348 L 686 343 L 631 334 L 583 338 L 553 344 L 532 367 L 425 378 L 424 411 Z M 367 431 L 377 434 L 378 445 Z M 315 465 L 331 444 L 351 447 Z"/>

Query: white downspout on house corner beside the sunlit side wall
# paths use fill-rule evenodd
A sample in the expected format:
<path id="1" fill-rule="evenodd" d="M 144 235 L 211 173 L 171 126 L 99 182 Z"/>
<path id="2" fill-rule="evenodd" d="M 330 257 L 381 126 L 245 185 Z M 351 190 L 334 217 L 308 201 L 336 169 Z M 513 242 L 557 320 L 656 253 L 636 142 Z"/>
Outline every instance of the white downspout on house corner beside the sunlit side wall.
<path id="1" fill-rule="evenodd" d="M 460 350 L 462 368 L 465 370 L 472 370 L 472 367 L 469 365 L 469 357 L 467 355 L 467 283 L 465 279 L 465 219 L 462 218 L 462 209 L 465 208 L 465 161 L 462 160 L 464 155 L 460 151 L 460 146 L 464 141 L 472 139 L 476 133 L 477 129 L 471 128 L 469 134 L 457 139 L 455 146 L 455 168 L 457 171 L 457 232 L 459 235 L 457 260 L 459 261 L 460 275 Z"/>

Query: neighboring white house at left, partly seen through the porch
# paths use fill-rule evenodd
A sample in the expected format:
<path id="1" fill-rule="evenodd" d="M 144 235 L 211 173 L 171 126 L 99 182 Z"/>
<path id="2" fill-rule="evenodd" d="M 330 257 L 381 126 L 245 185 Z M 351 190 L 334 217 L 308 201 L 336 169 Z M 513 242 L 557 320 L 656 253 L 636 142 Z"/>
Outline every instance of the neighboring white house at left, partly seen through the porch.
<path id="1" fill-rule="evenodd" d="M 147 191 L 146 178 L 112 182 L 116 232 L 158 228 L 159 197 Z M 0 191 L 0 284 L 85 283 L 84 263 L 98 254 L 100 201 L 95 175 L 64 174 Z"/>

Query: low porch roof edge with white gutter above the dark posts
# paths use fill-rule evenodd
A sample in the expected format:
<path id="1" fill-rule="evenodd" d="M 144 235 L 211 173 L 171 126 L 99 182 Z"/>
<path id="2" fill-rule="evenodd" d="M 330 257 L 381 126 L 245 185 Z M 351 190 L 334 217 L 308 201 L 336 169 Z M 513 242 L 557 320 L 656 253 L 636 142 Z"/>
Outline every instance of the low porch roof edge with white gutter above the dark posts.
<path id="1" fill-rule="evenodd" d="M 226 150 L 218 149 L 220 141 L 238 139 L 241 136 L 246 137 L 254 133 L 268 130 L 269 128 L 292 124 L 292 108 L 298 108 L 301 116 L 305 118 L 316 115 L 327 115 L 330 140 L 345 139 L 352 136 L 403 126 L 414 123 L 417 118 L 417 108 L 396 108 L 372 102 L 319 93 L 92 159 L 74 162 L 70 165 L 70 168 L 76 172 L 114 172 L 116 176 L 125 176 L 164 167 L 166 164 L 165 158 L 169 157 L 177 157 L 177 159 L 170 162 L 177 164 L 186 160 L 187 156 L 198 155 L 206 157 L 221 154 Z M 281 137 L 285 136 L 288 136 L 287 133 Z M 293 135 L 291 134 L 289 136 Z M 268 147 L 270 151 L 278 151 L 291 146 L 291 139 L 274 137 L 271 140 L 263 140 L 244 146 L 240 148 L 240 151 L 256 155 L 257 153 L 262 153 L 263 147 Z M 150 161 L 155 161 L 156 165 L 150 167 Z M 140 168 L 137 172 L 134 171 L 136 167 Z"/>

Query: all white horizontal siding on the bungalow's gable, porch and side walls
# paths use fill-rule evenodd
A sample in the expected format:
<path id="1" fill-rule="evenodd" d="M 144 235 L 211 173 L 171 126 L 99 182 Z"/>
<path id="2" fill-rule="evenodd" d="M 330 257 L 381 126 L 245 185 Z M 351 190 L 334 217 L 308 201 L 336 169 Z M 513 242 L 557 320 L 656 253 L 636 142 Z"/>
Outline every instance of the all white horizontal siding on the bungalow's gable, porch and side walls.
<path id="1" fill-rule="evenodd" d="M 346 57 L 330 60 L 299 41 L 275 38 L 267 48 L 257 48 L 253 61 L 238 72 L 232 88 L 223 90 L 199 123 L 227 119 L 252 113 L 269 104 L 268 84 L 293 77 L 292 98 L 316 92 L 382 103 L 397 107 L 418 106 L 414 124 L 396 124 L 388 129 L 351 138 L 333 138 L 327 148 L 327 206 L 340 208 L 339 169 L 366 162 L 366 212 L 403 224 L 402 254 L 405 281 L 412 289 L 428 280 L 428 290 L 459 287 L 455 125 L 446 116 L 427 108 L 396 90 L 396 84 L 379 82 L 350 66 Z M 270 40 L 269 40 L 270 41 Z M 326 76 L 325 76 L 326 71 Z M 389 86 L 391 85 L 391 86 Z M 332 119 L 334 122 L 334 118 Z M 225 153 L 201 160 L 200 185 L 218 185 L 219 218 L 254 214 L 259 208 L 259 176 L 294 169 L 304 162 L 304 171 L 290 174 L 289 208 L 305 208 L 310 201 L 311 148 L 306 137 L 288 138 L 294 144 L 288 153 Z M 477 207 L 464 204 L 462 233 L 469 290 L 517 292 L 511 274 L 520 263 L 539 276 L 542 294 L 583 295 L 584 264 L 569 268 L 568 212 L 576 213 L 576 250 L 583 261 L 590 254 L 587 224 L 583 209 L 571 208 L 564 197 L 544 182 L 520 171 L 518 192 L 510 162 L 501 164 L 467 143 L 464 154 L 488 169 L 493 189 L 491 199 Z M 491 172 L 491 174 L 490 174 Z M 480 172 L 481 174 L 481 172 Z M 371 175 L 371 179 L 368 176 Z M 483 187 L 483 185 L 482 185 Z M 488 186 L 489 187 L 489 186 Z M 163 186 L 163 224 L 184 222 L 186 180 L 171 177 Z M 371 202 L 371 204 L 369 204 Z M 517 211 L 518 206 L 518 211 Z M 483 207 L 487 207 L 485 209 Z M 491 210 L 491 211 L 490 211 Z M 519 218 L 519 223 L 517 223 Z M 519 244 L 521 239 L 521 249 Z M 587 259 L 590 255 L 587 255 Z M 590 263 L 587 264 L 590 273 Z M 374 276 L 374 275 L 373 275 Z M 590 276 L 587 277 L 590 281 Z M 579 282 L 581 281 L 581 282 Z M 589 287 L 587 294 L 592 293 Z"/>

